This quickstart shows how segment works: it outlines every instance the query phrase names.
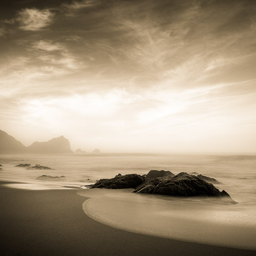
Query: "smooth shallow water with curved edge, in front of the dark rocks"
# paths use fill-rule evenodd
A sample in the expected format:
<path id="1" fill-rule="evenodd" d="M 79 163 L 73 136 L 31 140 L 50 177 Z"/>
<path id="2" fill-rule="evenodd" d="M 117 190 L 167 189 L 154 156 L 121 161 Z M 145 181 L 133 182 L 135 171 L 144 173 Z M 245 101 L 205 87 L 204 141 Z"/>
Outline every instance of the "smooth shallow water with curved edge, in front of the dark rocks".
<path id="1" fill-rule="evenodd" d="M 83 210 L 92 219 L 118 229 L 162 238 L 256 250 L 253 206 L 204 198 L 133 194 L 133 189 L 87 189 Z"/>

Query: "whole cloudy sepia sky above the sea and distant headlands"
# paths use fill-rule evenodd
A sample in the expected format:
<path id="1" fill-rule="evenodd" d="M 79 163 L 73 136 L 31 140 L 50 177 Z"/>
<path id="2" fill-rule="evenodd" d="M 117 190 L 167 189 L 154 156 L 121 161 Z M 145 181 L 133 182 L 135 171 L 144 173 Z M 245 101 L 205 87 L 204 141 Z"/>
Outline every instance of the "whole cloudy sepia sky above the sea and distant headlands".
<path id="1" fill-rule="evenodd" d="M 256 152 L 256 3 L 0 4 L 0 130 L 72 150 Z"/>

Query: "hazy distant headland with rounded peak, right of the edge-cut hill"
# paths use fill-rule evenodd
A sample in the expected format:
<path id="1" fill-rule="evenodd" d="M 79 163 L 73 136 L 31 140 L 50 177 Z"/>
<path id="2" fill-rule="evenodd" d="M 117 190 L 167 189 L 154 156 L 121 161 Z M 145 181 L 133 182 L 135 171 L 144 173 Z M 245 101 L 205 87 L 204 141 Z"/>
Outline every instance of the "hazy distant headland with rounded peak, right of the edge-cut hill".
<path id="1" fill-rule="evenodd" d="M 28 146 L 29 153 L 73 153 L 70 142 L 63 136 L 53 138 L 47 142 L 34 142 Z"/>

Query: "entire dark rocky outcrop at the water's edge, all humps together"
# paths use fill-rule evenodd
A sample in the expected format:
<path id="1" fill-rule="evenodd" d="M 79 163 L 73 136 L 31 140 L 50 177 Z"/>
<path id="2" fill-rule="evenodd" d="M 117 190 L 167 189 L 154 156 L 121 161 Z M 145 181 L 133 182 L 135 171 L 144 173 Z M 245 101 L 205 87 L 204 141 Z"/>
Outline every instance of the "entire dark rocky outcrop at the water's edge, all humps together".
<path id="1" fill-rule="evenodd" d="M 158 176 L 157 178 L 150 178 Z M 220 191 L 211 183 L 208 183 L 195 175 L 180 173 L 174 175 L 169 171 L 153 170 L 146 176 L 137 174 L 118 174 L 112 179 L 101 179 L 91 188 L 135 188 L 134 193 L 158 194 L 175 197 L 215 197 L 224 200 L 225 203 L 234 204 L 225 190 Z M 160 175 L 159 175 L 160 174 Z M 159 177 L 160 176 L 160 177 Z"/>

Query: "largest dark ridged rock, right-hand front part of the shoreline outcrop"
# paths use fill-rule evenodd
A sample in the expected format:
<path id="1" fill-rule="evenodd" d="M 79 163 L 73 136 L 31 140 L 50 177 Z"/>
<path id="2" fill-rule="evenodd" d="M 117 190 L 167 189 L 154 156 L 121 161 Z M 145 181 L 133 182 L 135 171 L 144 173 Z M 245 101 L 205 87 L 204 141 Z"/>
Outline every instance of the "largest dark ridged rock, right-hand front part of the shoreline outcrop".
<path id="1" fill-rule="evenodd" d="M 235 203 L 225 190 L 220 191 L 214 185 L 207 183 L 200 178 L 180 173 L 166 180 L 148 180 L 139 186 L 134 193 L 150 193 L 175 197 L 226 197 L 231 203 Z"/>

